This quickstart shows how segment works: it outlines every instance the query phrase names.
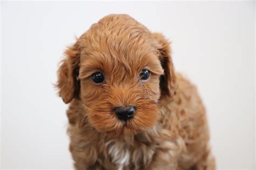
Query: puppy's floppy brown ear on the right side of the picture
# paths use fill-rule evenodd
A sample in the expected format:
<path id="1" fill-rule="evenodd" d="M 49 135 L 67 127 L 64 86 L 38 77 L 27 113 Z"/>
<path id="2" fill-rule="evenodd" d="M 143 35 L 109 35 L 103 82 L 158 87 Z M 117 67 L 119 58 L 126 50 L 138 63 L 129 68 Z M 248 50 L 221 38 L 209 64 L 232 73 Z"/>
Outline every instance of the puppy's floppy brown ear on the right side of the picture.
<path id="1" fill-rule="evenodd" d="M 152 36 L 155 40 L 154 46 L 159 52 L 161 66 L 164 69 L 164 75 L 160 77 L 161 96 L 169 95 L 172 97 L 176 94 L 176 76 L 172 63 L 171 43 L 161 33 L 153 33 Z"/>

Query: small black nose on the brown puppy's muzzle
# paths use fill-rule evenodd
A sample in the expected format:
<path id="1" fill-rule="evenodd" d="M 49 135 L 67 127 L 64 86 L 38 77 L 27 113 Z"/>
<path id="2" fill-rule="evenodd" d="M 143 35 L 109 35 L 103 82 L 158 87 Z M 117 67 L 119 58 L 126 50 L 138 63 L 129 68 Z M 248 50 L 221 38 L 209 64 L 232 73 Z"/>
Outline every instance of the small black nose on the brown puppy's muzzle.
<path id="1" fill-rule="evenodd" d="M 114 112 L 116 113 L 118 119 L 122 121 L 127 121 L 133 117 L 135 108 L 132 106 L 117 107 L 117 108 L 114 108 Z"/>

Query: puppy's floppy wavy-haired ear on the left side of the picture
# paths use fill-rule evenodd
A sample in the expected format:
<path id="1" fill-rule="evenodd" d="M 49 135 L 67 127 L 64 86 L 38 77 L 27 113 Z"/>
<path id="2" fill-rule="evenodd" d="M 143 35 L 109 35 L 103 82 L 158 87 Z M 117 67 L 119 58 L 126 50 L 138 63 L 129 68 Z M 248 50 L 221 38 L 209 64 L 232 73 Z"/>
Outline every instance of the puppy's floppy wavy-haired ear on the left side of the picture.
<path id="1" fill-rule="evenodd" d="M 73 98 L 79 98 L 80 82 L 79 75 L 80 50 L 78 42 L 65 51 L 66 58 L 60 63 L 58 69 L 58 81 L 56 87 L 58 94 L 64 103 L 69 103 Z"/>

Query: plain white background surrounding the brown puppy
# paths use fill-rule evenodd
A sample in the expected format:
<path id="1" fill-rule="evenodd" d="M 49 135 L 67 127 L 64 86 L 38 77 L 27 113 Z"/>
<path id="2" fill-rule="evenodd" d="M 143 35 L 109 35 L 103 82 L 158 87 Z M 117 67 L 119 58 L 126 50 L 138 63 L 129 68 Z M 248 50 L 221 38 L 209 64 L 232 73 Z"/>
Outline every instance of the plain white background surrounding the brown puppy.
<path id="1" fill-rule="evenodd" d="M 254 169 L 254 2 L 3 2 L 1 167 L 72 168 L 67 105 L 57 97 L 65 46 L 110 13 L 127 13 L 172 43 L 198 85 L 218 169 Z"/>

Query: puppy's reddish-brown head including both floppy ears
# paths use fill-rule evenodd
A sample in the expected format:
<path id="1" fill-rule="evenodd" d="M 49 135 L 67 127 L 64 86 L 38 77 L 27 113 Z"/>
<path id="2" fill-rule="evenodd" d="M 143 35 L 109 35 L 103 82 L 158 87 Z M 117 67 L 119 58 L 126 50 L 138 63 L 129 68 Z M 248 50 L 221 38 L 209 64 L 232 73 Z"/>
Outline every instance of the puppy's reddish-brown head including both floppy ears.
<path id="1" fill-rule="evenodd" d="M 65 52 L 59 96 L 79 98 L 89 123 L 105 133 L 137 133 L 158 120 L 158 101 L 174 94 L 170 43 L 127 15 L 93 24 Z"/>

